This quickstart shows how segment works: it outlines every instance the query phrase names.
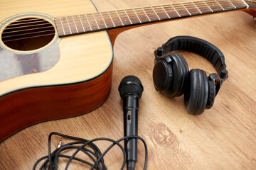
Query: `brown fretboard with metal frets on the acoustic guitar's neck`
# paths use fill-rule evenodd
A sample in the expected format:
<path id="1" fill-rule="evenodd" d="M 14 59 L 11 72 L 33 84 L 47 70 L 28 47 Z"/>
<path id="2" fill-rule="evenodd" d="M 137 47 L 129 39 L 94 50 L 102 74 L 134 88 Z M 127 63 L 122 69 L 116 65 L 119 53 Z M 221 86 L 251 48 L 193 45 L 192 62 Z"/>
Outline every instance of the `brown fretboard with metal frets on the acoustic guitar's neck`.
<path id="1" fill-rule="evenodd" d="M 245 1 L 242 0 L 194 1 L 181 4 L 165 4 L 117 11 L 86 13 L 75 16 L 63 16 L 55 18 L 55 24 L 58 35 L 63 37 L 247 7 Z"/>

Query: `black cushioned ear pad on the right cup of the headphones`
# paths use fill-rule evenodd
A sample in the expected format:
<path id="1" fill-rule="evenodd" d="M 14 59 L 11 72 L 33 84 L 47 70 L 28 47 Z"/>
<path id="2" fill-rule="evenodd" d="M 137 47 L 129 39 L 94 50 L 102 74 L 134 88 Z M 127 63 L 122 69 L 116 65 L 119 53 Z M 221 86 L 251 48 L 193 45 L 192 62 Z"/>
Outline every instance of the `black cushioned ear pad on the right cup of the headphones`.
<path id="1" fill-rule="evenodd" d="M 200 115 L 208 102 L 208 77 L 201 69 L 191 69 L 188 86 L 184 94 L 186 111 L 191 115 Z"/>

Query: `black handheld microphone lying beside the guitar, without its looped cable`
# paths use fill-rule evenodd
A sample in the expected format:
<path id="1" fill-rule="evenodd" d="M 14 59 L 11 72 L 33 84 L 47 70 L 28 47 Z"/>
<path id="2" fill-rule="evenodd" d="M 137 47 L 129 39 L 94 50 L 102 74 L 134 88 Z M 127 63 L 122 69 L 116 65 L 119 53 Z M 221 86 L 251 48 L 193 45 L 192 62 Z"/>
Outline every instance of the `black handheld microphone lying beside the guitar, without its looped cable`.
<path id="1" fill-rule="evenodd" d="M 124 137 L 137 136 L 138 101 L 142 96 L 142 82 L 135 76 L 124 77 L 120 82 L 118 91 L 123 99 Z M 137 162 L 137 139 L 124 140 L 124 149 L 127 152 L 127 170 L 133 170 Z"/>

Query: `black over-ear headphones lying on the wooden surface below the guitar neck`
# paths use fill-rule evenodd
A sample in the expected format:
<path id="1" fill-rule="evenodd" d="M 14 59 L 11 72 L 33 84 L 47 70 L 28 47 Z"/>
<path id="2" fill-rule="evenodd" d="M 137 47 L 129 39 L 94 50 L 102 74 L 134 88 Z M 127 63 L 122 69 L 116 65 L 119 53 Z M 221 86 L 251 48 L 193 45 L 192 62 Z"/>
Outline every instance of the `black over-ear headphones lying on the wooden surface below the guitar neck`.
<path id="1" fill-rule="evenodd" d="M 191 69 L 182 55 L 176 50 L 195 52 L 205 57 L 216 73 L 207 77 L 201 69 Z M 156 91 L 170 97 L 184 94 L 186 111 L 191 115 L 200 115 L 213 106 L 215 96 L 223 81 L 228 79 L 223 53 L 215 45 L 189 36 L 177 36 L 168 40 L 154 51 L 155 61 L 153 81 Z"/>

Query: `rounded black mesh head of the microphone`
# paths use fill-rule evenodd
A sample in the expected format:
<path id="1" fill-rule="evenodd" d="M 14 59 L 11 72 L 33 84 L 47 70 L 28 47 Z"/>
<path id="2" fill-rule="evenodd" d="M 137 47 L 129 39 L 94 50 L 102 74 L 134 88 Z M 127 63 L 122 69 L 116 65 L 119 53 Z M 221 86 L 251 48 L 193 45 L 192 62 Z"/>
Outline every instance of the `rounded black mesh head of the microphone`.
<path id="1" fill-rule="evenodd" d="M 121 98 L 127 94 L 135 94 L 142 97 L 143 86 L 138 77 L 127 76 L 122 79 L 118 87 Z"/>

